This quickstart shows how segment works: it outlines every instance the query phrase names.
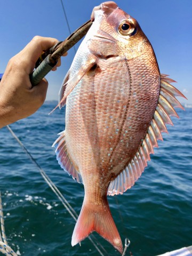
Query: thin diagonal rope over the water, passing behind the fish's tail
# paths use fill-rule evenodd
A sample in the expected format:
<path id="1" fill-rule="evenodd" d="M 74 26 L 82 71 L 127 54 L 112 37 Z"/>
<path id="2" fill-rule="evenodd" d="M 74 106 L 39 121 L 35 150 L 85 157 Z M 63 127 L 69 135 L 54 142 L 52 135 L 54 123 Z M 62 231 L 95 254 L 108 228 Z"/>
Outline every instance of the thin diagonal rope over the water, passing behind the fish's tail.
<path id="1" fill-rule="evenodd" d="M 78 218 L 78 214 L 76 213 L 76 211 L 73 209 L 73 207 L 69 204 L 69 202 L 67 201 L 67 199 L 61 194 L 61 192 L 59 191 L 59 189 L 54 185 L 53 181 L 47 176 L 47 174 L 43 171 L 43 169 L 41 168 L 41 166 L 35 161 L 35 159 L 33 158 L 33 156 L 31 156 L 31 154 L 29 153 L 29 151 L 27 150 L 27 148 L 23 145 L 23 143 L 20 141 L 20 139 L 17 137 L 17 135 L 13 132 L 13 130 L 11 129 L 11 127 L 9 125 L 6 126 L 7 129 L 11 132 L 12 136 L 14 137 L 15 140 L 17 140 L 17 142 L 19 143 L 19 145 L 21 146 L 21 148 L 25 151 L 25 153 L 28 155 L 28 157 L 30 158 L 30 160 L 36 165 L 36 167 L 38 168 L 38 170 L 40 171 L 42 177 L 44 178 L 44 180 L 46 181 L 46 183 L 50 186 L 50 188 L 52 189 L 52 191 L 55 193 L 55 195 L 57 195 L 57 197 L 59 198 L 59 200 L 61 201 L 61 203 L 63 204 L 63 206 L 65 206 L 66 210 L 69 212 L 69 214 L 71 215 L 71 217 L 77 221 Z M 93 235 L 92 235 L 93 236 Z M 94 243 L 93 239 L 89 236 L 87 237 L 90 239 L 91 243 L 95 246 L 95 248 L 98 250 L 98 252 L 100 253 L 101 256 L 104 256 L 104 254 L 101 252 L 101 250 L 99 249 L 99 247 Z M 95 240 L 97 240 L 96 238 L 94 238 Z M 97 241 L 97 244 L 100 245 L 101 249 L 107 253 L 107 251 L 103 248 L 103 246 Z"/>

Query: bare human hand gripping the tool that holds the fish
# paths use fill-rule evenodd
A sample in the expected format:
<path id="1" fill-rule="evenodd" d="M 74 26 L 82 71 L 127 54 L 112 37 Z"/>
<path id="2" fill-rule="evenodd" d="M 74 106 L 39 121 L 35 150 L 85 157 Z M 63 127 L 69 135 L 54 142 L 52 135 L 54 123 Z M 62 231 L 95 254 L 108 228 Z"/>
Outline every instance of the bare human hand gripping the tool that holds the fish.
<path id="1" fill-rule="evenodd" d="M 48 82 L 43 78 L 38 85 L 32 87 L 29 74 L 33 72 L 42 52 L 57 43 L 55 38 L 35 36 L 21 52 L 10 59 L 0 83 L 0 128 L 34 114 L 42 106 Z M 52 70 L 60 65 L 59 59 Z"/>

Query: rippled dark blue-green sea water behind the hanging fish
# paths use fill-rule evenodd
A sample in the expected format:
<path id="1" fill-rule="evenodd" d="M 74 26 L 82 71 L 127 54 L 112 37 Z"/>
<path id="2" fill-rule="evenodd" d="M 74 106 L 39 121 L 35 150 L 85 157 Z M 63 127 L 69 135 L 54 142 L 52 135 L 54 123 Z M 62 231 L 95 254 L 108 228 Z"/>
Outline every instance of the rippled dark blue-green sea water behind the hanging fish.
<path id="1" fill-rule="evenodd" d="M 57 102 L 44 105 L 26 119 L 11 126 L 77 213 L 84 188 L 63 171 L 51 147 L 65 130 L 65 109 L 47 115 Z M 169 134 L 134 187 L 123 195 L 108 197 L 111 212 L 123 244 L 131 241 L 135 256 L 155 256 L 192 245 L 192 109 L 178 110 Z M 6 127 L 0 130 L 0 188 L 5 231 L 13 250 L 26 256 L 100 255 L 89 239 L 71 247 L 75 221 L 42 178 Z M 103 255 L 119 253 L 94 233 Z M 97 240 L 95 240 L 95 238 Z M 102 249 L 101 249 L 102 250 Z"/>

